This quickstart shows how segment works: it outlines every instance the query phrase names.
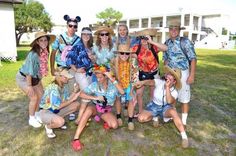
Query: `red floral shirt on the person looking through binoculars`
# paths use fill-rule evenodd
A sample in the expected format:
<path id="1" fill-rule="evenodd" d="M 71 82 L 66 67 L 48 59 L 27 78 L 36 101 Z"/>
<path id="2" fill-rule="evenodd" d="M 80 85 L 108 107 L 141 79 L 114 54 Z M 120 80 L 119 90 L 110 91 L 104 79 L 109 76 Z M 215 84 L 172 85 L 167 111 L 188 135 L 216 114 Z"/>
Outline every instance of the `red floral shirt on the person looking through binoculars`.
<path id="1" fill-rule="evenodd" d="M 139 45 L 135 45 L 134 47 L 132 47 L 132 51 L 136 52 L 138 46 Z M 156 46 L 153 46 L 153 48 L 158 53 L 158 48 Z M 144 72 L 154 72 L 157 70 L 158 66 L 158 62 L 155 56 L 152 54 L 152 51 L 141 46 L 140 52 L 138 54 L 139 70 L 142 70 Z"/>

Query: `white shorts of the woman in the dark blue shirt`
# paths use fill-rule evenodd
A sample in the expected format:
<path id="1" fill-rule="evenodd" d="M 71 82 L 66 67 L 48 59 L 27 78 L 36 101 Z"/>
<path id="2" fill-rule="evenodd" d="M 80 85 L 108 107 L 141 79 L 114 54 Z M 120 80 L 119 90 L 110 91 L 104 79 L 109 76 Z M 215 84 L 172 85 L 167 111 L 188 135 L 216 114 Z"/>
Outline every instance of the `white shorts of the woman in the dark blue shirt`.
<path id="1" fill-rule="evenodd" d="M 80 90 L 84 90 L 92 82 L 91 76 L 86 76 L 86 73 L 75 73 L 75 81 L 79 85 Z M 82 99 L 83 102 L 90 102 L 91 100 Z"/>

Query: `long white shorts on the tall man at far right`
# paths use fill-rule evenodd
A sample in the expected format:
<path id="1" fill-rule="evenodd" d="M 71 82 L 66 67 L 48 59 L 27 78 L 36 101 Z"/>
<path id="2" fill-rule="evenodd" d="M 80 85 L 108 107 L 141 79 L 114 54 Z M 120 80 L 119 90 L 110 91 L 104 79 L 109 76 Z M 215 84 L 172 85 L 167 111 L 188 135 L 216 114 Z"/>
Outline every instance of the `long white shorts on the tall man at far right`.
<path id="1" fill-rule="evenodd" d="M 181 83 L 182 88 L 178 90 L 178 101 L 180 103 L 189 103 L 190 101 L 190 85 L 187 84 L 187 79 L 189 77 L 189 69 L 181 70 Z"/>

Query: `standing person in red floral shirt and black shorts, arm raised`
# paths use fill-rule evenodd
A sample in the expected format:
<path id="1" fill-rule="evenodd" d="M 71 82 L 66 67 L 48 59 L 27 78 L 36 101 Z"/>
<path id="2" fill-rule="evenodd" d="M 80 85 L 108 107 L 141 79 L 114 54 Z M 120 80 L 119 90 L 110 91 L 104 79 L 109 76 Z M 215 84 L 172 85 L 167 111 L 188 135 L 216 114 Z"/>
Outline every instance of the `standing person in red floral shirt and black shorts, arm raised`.
<path id="1" fill-rule="evenodd" d="M 152 40 L 152 37 L 156 36 L 156 34 L 157 29 L 144 29 L 137 32 L 139 44 L 132 47 L 132 51 L 136 52 L 137 55 L 140 81 L 153 80 L 154 78 L 159 77 L 158 52 L 166 51 L 167 46 Z M 149 87 L 151 100 L 154 87 Z M 143 92 L 144 86 L 136 90 L 139 113 L 143 110 Z"/>

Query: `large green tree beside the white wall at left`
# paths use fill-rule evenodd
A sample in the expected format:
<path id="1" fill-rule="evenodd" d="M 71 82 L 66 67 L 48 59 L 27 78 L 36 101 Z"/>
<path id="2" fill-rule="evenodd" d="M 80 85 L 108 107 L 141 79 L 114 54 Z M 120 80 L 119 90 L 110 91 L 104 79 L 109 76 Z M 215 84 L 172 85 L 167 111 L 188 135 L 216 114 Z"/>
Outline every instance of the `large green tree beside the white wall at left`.
<path id="1" fill-rule="evenodd" d="M 17 45 L 19 45 L 20 38 L 24 33 L 38 30 L 51 31 L 53 26 L 51 17 L 40 2 L 24 1 L 23 4 L 14 5 L 14 10 Z"/>

